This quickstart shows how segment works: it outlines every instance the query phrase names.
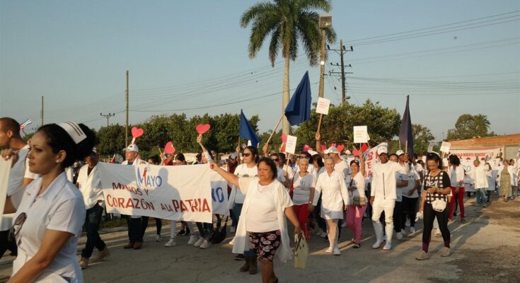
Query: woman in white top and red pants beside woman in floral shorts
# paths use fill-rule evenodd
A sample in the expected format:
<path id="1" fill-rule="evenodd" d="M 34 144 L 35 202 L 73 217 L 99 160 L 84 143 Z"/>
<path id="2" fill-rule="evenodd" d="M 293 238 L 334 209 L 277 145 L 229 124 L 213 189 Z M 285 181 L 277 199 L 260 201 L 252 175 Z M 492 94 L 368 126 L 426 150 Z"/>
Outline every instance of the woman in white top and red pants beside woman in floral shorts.
<path id="1" fill-rule="evenodd" d="M 316 178 L 307 171 L 308 159 L 300 158 L 298 161 L 299 171 L 292 176 L 284 173 L 285 186 L 294 187 L 292 195 L 293 209 L 298 216 L 301 229 L 304 231 L 305 238 L 308 240 L 308 216 L 313 212 L 314 205 L 318 202 L 318 197 L 314 200 L 314 187 L 316 187 Z M 289 180 L 292 178 L 292 180 Z"/>

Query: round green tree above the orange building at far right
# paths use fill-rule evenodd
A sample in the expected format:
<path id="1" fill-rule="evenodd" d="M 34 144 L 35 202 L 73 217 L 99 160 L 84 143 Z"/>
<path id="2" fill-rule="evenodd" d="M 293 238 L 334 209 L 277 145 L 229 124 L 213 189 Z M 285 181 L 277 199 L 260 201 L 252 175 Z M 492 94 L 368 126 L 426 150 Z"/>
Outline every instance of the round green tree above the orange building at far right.
<path id="1" fill-rule="evenodd" d="M 494 132 L 487 132 L 491 122 L 486 115 L 463 114 L 455 122 L 455 128 L 448 130 L 448 139 L 471 139 L 472 137 L 495 136 Z"/>

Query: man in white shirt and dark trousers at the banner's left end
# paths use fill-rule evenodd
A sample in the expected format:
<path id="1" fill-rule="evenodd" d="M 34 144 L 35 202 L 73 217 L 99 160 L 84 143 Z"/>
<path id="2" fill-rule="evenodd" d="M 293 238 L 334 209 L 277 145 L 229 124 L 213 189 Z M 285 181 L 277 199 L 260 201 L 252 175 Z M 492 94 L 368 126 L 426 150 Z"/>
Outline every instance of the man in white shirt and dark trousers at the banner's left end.
<path id="1" fill-rule="evenodd" d="M 79 191 L 83 195 L 83 202 L 86 208 L 85 227 L 87 241 L 85 248 L 81 250 L 81 260 L 79 262 L 79 266 L 83 270 L 88 267 L 88 259 L 91 258 L 94 248 L 99 250 L 99 254 L 92 262 L 100 262 L 110 255 L 107 245 L 101 240 L 98 233 L 101 216 L 105 209 L 98 161 L 98 151 L 94 148 L 91 154 L 86 157 L 86 164 L 79 169 L 76 183 L 76 187 L 79 187 Z"/>

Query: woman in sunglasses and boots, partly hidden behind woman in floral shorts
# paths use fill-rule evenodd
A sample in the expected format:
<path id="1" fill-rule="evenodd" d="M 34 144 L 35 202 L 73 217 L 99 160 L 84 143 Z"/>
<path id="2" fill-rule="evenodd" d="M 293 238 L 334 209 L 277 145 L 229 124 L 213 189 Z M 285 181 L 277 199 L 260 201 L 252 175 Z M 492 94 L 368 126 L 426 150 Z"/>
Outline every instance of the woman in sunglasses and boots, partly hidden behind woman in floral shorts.
<path id="1" fill-rule="evenodd" d="M 238 178 L 258 177 L 258 150 L 253 146 L 248 146 L 243 149 L 242 156 L 242 163 L 236 167 L 233 175 L 236 175 Z M 229 195 L 229 202 L 230 204 L 233 204 L 233 213 L 238 219 L 238 223 L 240 223 L 244 201 L 245 195 L 236 185 L 231 183 L 231 195 Z M 236 255 L 235 260 L 245 260 L 244 265 L 240 267 L 241 272 L 249 272 L 250 275 L 254 275 L 258 272 L 255 250 L 250 249 L 243 253 L 243 255 Z"/>

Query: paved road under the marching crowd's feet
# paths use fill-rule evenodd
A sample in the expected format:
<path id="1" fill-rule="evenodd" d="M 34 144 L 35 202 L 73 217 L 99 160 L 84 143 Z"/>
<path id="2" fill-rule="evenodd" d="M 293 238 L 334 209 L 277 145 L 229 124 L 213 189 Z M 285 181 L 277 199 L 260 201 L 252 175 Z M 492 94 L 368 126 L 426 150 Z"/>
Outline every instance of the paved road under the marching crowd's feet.
<path id="1" fill-rule="evenodd" d="M 393 250 L 372 250 L 374 229 L 363 224 L 362 248 L 352 249 L 352 232 L 342 229 L 342 255 L 324 253 L 328 242 L 313 236 L 311 254 L 304 270 L 295 270 L 294 262 L 276 262 L 280 282 L 520 282 L 520 198 L 504 203 L 494 197 L 487 209 L 466 201 L 466 223 L 453 221 L 451 247 L 453 255 L 441 258 L 442 238 L 433 238 L 431 258 L 415 260 L 421 246 L 422 223 L 414 236 L 393 240 Z M 164 221 L 165 223 L 167 221 Z M 223 244 L 201 250 L 187 245 L 188 237 L 178 237 L 177 246 L 154 242 L 155 226 L 150 226 L 141 250 L 123 250 L 127 242 L 125 229 L 103 231 L 102 238 L 112 255 L 105 262 L 84 270 L 85 282 L 261 282 L 260 274 L 238 272 L 242 262 L 233 260 L 231 246 Z M 169 226 L 163 227 L 163 238 Z M 80 249 L 85 238 L 80 240 Z M 0 261 L 0 279 L 11 273 L 13 257 Z"/>

